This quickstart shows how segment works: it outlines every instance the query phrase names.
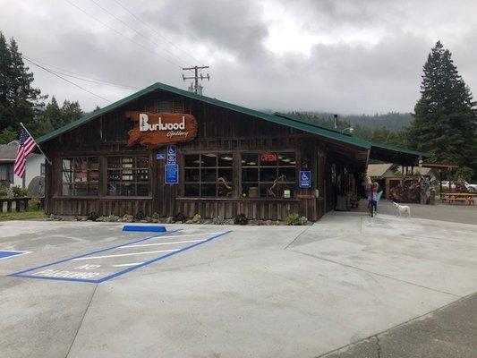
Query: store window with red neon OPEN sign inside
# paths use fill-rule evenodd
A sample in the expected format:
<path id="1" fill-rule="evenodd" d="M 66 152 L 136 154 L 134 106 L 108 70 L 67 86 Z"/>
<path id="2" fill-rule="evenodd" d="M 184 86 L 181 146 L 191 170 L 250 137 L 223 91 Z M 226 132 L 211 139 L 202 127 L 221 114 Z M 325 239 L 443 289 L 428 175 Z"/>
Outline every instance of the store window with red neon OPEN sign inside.
<path id="1" fill-rule="evenodd" d="M 242 154 L 244 198 L 292 198 L 295 187 L 294 152 Z"/>

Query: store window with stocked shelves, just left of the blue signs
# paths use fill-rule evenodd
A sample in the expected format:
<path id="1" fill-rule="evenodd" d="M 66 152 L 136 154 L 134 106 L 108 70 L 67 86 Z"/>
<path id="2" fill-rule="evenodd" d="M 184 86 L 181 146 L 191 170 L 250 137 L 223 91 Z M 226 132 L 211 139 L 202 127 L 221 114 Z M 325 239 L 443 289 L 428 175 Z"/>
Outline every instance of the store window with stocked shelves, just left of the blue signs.
<path id="1" fill-rule="evenodd" d="M 149 196 L 149 157 L 108 157 L 107 195 Z"/>

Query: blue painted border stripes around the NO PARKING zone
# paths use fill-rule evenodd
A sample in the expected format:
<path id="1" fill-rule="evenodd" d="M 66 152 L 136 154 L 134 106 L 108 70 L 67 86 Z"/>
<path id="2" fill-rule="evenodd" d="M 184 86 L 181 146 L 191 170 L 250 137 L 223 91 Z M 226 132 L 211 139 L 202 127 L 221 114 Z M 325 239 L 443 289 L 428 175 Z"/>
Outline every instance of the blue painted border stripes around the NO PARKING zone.
<path id="1" fill-rule="evenodd" d="M 175 230 L 175 231 L 171 231 L 169 233 L 174 233 L 174 232 L 177 232 L 179 230 Z M 26 270 L 23 270 L 23 271 L 20 271 L 20 272 L 16 272 L 14 274 L 11 274 L 9 276 L 13 276 L 13 277 L 27 277 L 27 278 L 37 278 L 37 279 L 49 279 L 49 280 L 55 280 L 55 281 L 69 281 L 69 282 L 83 282 L 83 283 L 90 283 L 90 284 L 100 284 L 102 282 L 106 282 L 112 278 L 115 278 L 115 277 L 118 277 L 118 276 L 122 276 L 134 269 L 138 269 L 138 268 L 142 268 L 142 267 L 145 267 L 145 266 L 148 266 L 154 262 L 157 262 L 158 260 L 165 260 L 166 258 L 170 257 L 170 256 L 173 256 L 173 255 L 176 255 L 178 253 L 181 253 L 183 251 L 188 251 L 188 250 L 191 250 L 192 248 L 196 247 L 196 246 L 199 246 L 203 243 L 209 243 L 210 241 L 216 239 L 217 237 L 220 237 L 220 236 L 223 236 L 225 234 L 229 234 L 231 233 L 232 230 L 227 230 L 223 233 L 219 233 L 219 234 L 215 234 L 214 236 L 211 236 L 209 237 L 208 239 L 205 239 L 204 241 L 201 241 L 200 243 L 193 243 L 192 245 L 189 245 L 189 246 L 186 246 L 186 247 L 183 247 L 182 249 L 178 250 L 178 251 L 174 251 L 174 252 L 169 252 L 165 255 L 162 255 L 162 256 L 159 256 L 158 258 L 155 258 L 155 259 L 152 259 L 152 260 L 148 260 L 148 261 L 145 261 L 145 262 L 142 262 L 141 264 L 138 264 L 136 266 L 132 266 L 131 268 L 126 268 L 122 271 L 118 271 L 118 272 L 115 272 L 114 274 L 112 275 L 109 275 L 109 276 L 106 276 L 106 277 L 102 277 L 98 280 L 93 280 L 93 279 L 88 279 L 88 278 L 69 278 L 69 277 L 40 277 L 40 276 L 33 276 L 33 275 L 24 275 L 25 272 L 30 272 L 30 271 L 33 271 L 35 269 L 38 269 L 38 268 L 45 268 L 45 267 L 48 267 L 48 266 L 53 266 L 55 264 L 58 264 L 58 263 L 62 263 L 62 262 L 65 262 L 65 261 L 69 261 L 69 260 L 73 260 L 73 259 L 78 259 L 78 258 L 81 258 L 81 257 L 84 257 L 84 256 L 88 256 L 88 255 L 91 255 L 93 253 L 98 253 L 98 252 L 103 252 L 103 251 L 108 251 L 108 250 L 113 250 L 113 249 L 116 249 L 116 248 L 119 248 L 119 247 L 124 247 L 124 246 L 127 246 L 127 245 L 130 245 L 132 243 L 140 243 L 142 241 L 146 241 L 146 240 L 149 240 L 149 239 L 152 239 L 152 238 L 155 238 L 155 237 L 161 237 L 162 235 L 154 235 L 154 236 L 150 236 L 150 237 L 146 237 L 144 239 L 141 239 L 141 240 L 136 240 L 136 241 L 133 241 L 132 243 L 126 243 L 126 244 L 121 244 L 121 245 L 116 245 L 116 246 L 113 246 L 113 247 L 110 247 L 110 248 L 106 248 L 106 249 L 102 249 L 102 250 L 98 250 L 98 251 L 93 251 L 93 252 L 89 252 L 87 254 L 83 254 L 83 255 L 80 255 L 80 256 L 76 256 L 76 257 L 72 257 L 72 258 L 69 258 L 69 259 L 65 259 L 65 260 L 59 260 L 59 261 L 55 261 L 53 263 L 49 263 L 47 265 L 42 265 L 42 266 L 38 266 L 36 268 L 29 268 L 29 269 L 26 269 Z M 166 234 L 166 233 L 165 233 Z M 204 233 L 204 235 L 207 235 L 207 233 Z"/>

